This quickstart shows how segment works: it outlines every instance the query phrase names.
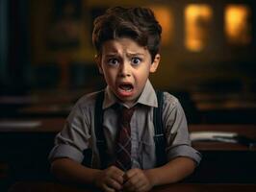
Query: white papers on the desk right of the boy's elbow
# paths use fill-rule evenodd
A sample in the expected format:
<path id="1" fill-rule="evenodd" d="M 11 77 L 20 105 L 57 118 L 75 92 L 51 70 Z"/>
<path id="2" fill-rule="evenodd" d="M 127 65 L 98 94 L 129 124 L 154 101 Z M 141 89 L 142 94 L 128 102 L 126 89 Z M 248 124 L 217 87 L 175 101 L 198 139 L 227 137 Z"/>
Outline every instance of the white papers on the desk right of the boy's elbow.
<path id="1" fill-rule="evenodd" d="M 190 137 L 192 141 L 221 141 L 236 143 L 238 136 L 237 132 L 214 132 L 214 131 L 205 131 L 205 132 L 191 132 Z"/>

